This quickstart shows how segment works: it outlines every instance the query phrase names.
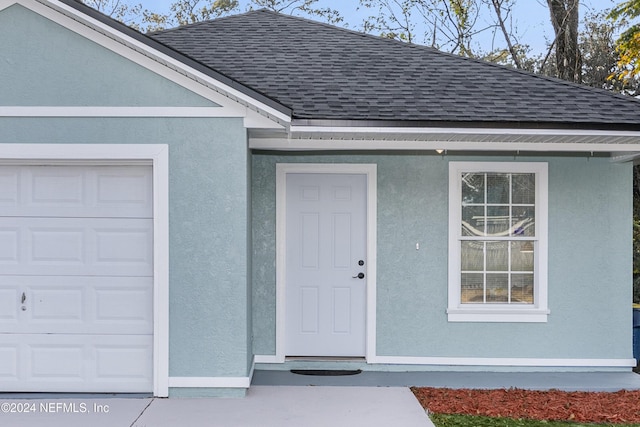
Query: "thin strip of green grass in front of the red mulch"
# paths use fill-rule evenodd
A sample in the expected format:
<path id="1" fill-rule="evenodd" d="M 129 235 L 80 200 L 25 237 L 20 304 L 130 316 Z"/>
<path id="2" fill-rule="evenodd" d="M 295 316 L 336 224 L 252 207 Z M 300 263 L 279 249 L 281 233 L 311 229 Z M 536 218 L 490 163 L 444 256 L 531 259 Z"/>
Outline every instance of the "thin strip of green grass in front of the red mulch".
<path id="1" fill-rule="evenodd" d="M 640 427 L 640 424 L 585 424 L 568 421 L 515 420 L 472 415 L 429 414 L 436 427 Z"/>

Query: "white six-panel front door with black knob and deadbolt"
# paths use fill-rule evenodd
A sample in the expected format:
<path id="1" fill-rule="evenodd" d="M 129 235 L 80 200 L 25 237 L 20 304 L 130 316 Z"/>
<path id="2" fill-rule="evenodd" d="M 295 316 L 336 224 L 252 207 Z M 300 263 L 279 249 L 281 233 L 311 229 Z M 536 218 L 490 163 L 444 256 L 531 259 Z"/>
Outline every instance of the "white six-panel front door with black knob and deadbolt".
<path id="1" fill-rule="evenodd" d="M 365 355 L 367 177 L 286 178 L 287 356 Z"/>

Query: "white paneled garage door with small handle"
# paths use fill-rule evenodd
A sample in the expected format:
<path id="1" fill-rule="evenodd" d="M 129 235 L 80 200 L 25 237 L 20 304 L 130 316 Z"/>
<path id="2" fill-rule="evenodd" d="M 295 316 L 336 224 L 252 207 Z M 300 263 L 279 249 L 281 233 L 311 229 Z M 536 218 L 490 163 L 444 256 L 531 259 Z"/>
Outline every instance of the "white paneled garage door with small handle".
<path id="1" fill-rule="evenodd" d="M 151 166 L 0 166 L 0 391 L 153 390 Z"/>

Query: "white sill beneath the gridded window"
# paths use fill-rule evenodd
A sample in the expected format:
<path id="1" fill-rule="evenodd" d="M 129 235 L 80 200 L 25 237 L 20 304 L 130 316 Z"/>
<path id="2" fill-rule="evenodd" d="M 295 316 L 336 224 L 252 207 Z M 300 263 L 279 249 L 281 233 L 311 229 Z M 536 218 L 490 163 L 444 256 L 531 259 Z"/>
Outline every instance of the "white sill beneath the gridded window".
<path id="1" fill-rule="evenodd" d="M 546 323 L 549 310 L 539 308 L 449 308 L 449 322 Z"/>

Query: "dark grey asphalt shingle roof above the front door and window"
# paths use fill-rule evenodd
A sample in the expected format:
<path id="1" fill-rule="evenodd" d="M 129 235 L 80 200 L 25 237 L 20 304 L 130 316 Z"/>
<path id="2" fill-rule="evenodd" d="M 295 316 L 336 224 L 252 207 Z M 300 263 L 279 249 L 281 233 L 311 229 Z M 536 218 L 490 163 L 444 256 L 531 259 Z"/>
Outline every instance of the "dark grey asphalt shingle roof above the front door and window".
<path id="1" fill-rule="evenodd" d="M 266 10 L 152 38 L 294 119 L 640 127 L 629 97 Z"/>

